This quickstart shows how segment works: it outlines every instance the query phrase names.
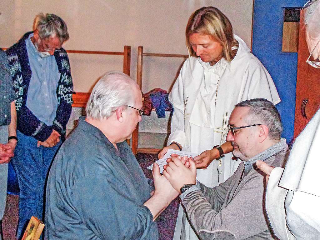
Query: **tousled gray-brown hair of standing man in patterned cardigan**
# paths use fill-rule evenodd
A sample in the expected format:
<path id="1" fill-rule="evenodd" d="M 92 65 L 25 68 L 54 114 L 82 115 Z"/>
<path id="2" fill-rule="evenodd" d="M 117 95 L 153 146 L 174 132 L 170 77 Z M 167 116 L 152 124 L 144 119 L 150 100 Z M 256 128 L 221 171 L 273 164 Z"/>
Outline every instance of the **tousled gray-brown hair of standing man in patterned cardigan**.
<path id="1" fill-rule="evenodd" d="M 67 24 L 57 15 L 52 13 L 39 13 L 33 22 L 33 31 L 39 31 L 41 39 L 57 36 L 60 43 L 64 43 L 69 39 Z"/>

